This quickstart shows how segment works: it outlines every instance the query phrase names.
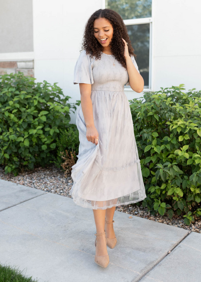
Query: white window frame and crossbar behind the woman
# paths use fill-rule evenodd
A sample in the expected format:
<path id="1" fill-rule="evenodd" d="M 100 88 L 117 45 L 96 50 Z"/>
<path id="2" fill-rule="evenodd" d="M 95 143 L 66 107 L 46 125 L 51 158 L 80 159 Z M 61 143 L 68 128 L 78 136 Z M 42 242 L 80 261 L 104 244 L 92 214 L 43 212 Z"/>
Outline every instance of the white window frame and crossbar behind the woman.
<path id="1" fill-rule="evenodd" d="M 151 7 L 151 17 L 150 18 L 139 18 L 139 19 L 129 19 L 124 20 L 126 26 L 129 25 L 141 25 L 141 24 L 149 24 L 150 27 L 150 37 L 149 37 L 149 86 L 148 88 L 144 88 L 143 92 L 153 91 L 153 31 L 154 31 L 154 1 L 152 0 Z M 102 9 L 106 9 L 106 0 L 102 0 Z M 133 91 L 131 87 L 124 88 L 125 91 Z"/>

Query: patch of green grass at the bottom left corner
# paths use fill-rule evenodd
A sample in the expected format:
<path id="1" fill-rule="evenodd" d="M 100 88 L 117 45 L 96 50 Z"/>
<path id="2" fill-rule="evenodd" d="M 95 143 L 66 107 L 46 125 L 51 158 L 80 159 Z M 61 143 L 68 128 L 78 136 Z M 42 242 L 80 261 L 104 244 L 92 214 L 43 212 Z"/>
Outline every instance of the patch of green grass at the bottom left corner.
<path id="1" fill-rule="evenodd" d="M 13 268 L 10 265 L 2 265 L 0 263 L 0 282 L 38 282 L 38 279 L 32 279 L 22 274 L 23 271 Z"/>

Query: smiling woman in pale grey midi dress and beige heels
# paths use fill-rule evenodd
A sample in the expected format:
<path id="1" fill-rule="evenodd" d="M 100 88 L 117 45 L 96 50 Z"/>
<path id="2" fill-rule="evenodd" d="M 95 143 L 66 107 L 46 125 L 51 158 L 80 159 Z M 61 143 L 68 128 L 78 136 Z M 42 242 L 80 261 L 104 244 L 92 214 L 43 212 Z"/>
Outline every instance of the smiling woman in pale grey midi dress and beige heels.
<path id="1" fill-rule="evenodd" d="M 144 80 L 126 26 L 118 13 L 99 9 L 85 26 L 82 52 L 74 68 L 81 103 L 76 117 L 79 154 L 72 166 L 73 201 L 93 209 L 95 262 L 107 267 L 107 245 L 117 242 L 116 206 L 146 198 L 133 120 L 124 86 L 140 93 Z"/>

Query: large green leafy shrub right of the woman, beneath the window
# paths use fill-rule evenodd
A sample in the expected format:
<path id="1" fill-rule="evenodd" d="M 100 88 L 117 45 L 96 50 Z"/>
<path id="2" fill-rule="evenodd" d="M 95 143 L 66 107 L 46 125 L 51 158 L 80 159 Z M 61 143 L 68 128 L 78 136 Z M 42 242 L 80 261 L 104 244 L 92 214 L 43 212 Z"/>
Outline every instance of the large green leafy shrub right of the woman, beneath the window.
<path id="1" fill-rule="evenodd" d="M 146 188 L 155 215 L 183 215 L 185 224 L 200 217 L 201 91 L 184 85 L 129 100 Z"/>

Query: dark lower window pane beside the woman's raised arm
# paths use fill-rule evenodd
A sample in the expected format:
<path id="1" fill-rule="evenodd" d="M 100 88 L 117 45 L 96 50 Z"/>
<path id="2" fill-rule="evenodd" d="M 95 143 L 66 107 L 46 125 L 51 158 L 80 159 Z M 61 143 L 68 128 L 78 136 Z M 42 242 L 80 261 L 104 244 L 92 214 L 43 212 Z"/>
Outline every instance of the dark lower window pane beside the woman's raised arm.
<path id="1" fill-rule="evenodd" d="M 129 25 L 126 26 L 131 40 L 134 53 L 137 55 L 136 62 L 140 74 L 144 79 L 144 88 L 149 87 L 149 37 L 150 25 Z"/>

